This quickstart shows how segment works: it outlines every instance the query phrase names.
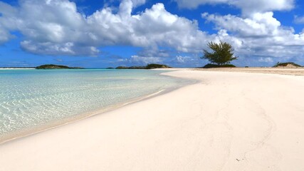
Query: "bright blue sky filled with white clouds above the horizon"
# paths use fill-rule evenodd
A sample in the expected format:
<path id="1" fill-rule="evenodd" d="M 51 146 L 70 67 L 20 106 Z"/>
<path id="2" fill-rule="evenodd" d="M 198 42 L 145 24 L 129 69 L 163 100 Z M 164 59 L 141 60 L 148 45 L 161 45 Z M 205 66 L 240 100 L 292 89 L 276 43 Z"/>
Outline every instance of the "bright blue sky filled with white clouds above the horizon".
<path id="1" fill-rule="evenodd" d="M 304 65 L 304 1 L 0 1 L 0 67 L 200 67 L 210 41 L 236 66 Z"/>

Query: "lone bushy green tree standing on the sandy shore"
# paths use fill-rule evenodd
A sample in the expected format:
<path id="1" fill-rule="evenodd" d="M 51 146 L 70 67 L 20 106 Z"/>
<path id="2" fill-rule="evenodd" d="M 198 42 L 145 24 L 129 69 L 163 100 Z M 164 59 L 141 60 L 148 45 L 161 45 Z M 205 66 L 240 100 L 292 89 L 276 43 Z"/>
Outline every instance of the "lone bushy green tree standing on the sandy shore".
<path id="1" fill-rule="evenodd" d="M 211 48 L 212 52 L 206 51 L 204 49 L 204 56 L 201 58 L 208 59 L 211 63 L 216 63 L 219 66 L 230 63 L 234 61 L 237 57 L 234 57 L 234 48 L 229 43 L 220 41 L 220 43 L 209 42 L 207 44 Z"/>

